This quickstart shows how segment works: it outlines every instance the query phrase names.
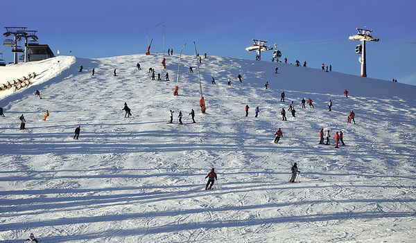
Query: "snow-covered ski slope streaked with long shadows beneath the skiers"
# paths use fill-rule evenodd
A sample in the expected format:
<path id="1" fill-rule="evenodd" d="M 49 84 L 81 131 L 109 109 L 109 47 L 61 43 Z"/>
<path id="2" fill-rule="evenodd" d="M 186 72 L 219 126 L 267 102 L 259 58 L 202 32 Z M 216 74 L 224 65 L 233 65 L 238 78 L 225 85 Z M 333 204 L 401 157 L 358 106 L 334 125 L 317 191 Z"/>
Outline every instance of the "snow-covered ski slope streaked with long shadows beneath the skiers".
<path id="1" fill-rule="evenodd" d="M 173 96 L 178 61 L 166 56 L 166 69 L 160 54 L 30 64 L 56 75 L 0 100 L 0 242 L 29 233 L 42 243 L 416 241 L 416 87 L 209 57 L 200 64 L 200 114 L 196 57 L 182 56 Z M 150 67 L 171 81 L 150 80 Z M 315 108 L 301 109 L 302 98 Z M 291 100 L 296 118 L 286 112 L 282 122 Z M 123 118 L 124 102 L 131 118 Z M 170 109 L 175 123 L 182 111 L 184 125 L 166 124 Z M 347 125 L 351 110 L 356 125 Z M 18 129 L 21 114 L 27 130 Z M 331 131 L 331 145 L 318 145 L 321 128 Z M 347 146 L 335 149 L 340 130 Z M 295 162 L 301 182 L 286 183 Z M 218 181 L 206 191 L 211 168 Z"/>

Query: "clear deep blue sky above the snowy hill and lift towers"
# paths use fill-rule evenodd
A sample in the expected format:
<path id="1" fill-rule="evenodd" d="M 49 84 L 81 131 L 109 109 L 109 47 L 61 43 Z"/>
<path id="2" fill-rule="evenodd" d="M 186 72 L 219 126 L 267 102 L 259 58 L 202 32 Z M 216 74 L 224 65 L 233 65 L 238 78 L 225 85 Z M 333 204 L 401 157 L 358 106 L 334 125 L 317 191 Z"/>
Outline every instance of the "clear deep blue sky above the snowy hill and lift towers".
<path id="1" fill-rule="evenodd" d="M 0 27 L 37 30 L 41 44 L 76 57 L 111 57 L 165 49 L 254 60 L 245 47 L 252 39 L 279 44 L 288 62 L 361 74 L 356 28 L 372 29 L 379 42 L 367 42 L 367 76 L 416 85 L 416 1 L 2 1 Z M 157 24 L 164 21 L 164 24 Z M 164 27 L 163 27 L 164 26 Z M 146 29 L 145 29 L 146 28 Z M 1 35 L 2 40 L 6 39 Z M 320 40 L 320 42 L 311 42 Z M 302 43 L 297 43 L 302 42 Z M 413 43 L 406 43 L 413 42 Z M 12 62 L 7 46 L 0 46 Z M 71 51 L 71 53 L 70 53 Z M 270 61 L 272 51 L 262 53 Z"/>

